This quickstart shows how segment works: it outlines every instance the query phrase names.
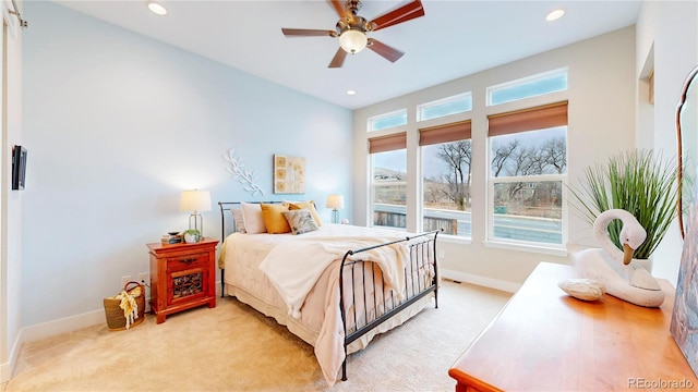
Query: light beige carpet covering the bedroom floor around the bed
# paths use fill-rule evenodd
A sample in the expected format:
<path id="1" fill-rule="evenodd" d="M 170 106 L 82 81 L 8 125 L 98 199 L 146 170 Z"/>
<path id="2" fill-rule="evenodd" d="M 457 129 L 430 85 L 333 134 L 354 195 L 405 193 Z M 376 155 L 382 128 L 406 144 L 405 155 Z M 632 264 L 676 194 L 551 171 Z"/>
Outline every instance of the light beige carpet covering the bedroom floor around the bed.
<path id="1" fill-rule="evenodd" d="M 328 388 L 313 347 L 234 298 L 216 308 L 152 315 L 112 332 L 98 324 L 22 347 L 15 391 L 453 391 L 448 368 L 508 293 L 444 282 L 425 308 L 351 354 L 348 381 Z"/>

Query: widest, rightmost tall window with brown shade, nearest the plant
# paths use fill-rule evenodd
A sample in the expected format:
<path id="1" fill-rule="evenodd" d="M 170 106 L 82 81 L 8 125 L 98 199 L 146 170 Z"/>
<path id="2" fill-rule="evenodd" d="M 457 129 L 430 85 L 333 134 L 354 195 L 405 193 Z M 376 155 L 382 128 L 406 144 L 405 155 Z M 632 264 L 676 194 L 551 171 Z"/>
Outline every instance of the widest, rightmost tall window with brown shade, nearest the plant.
<path id="1" fill-rule="evenodd" d="M 567 102 L 490 115 L 490 233 L 563 244 Z"/>

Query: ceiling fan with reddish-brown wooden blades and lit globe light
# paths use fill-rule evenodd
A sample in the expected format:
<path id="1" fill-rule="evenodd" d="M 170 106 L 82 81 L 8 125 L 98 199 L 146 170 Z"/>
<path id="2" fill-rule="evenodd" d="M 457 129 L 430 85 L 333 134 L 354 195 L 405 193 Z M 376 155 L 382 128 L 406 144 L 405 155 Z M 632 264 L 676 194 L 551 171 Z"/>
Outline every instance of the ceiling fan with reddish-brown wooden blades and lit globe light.
<path id="1" fill-rule="evenodd" d="M 340 68 L 347 53 L 358 53 L 363 48 L 369 48 L 390 62 L 396 62 L 405 54 L 374 38 L 366 37 L 366 33 L 376 32 L 398 23 L 407 22 L 424 15 L 424 8 L 420 0 L 411 0 L 393 11 L 366 21 L 358 14 L 361 9 L 359 0 L 327 0 L 339 14 L 339 21 L 334 30 L 308 29 L 308 28 L 281 28 L 287 37 L 339 37 L 339 49 L 329 62 L 328 68 Z"/>

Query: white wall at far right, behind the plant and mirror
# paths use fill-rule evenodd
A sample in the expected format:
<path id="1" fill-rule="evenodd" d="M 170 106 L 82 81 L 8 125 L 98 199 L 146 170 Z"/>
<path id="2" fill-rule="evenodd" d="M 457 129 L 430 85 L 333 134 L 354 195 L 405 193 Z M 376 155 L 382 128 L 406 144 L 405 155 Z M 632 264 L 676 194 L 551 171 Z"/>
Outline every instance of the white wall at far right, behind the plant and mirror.
<path id="1" fill-rule="evenodd" d="M 649 119 L 649 123 L 639 124 L 639 143 L 674 158 L 676 105 L 686 76 L 698 65 L 698 2 L 643 2 L 636 45 L 636 77 L 645 76 L 642 71 L 647 63 L 654 69 L 654 105 L 638 107 L 638 118 Z M 638 97 L 638 101 L 642 100 L 643 97 Z M 675 285 L 682 249 L 683 240 L 678 223 L 675 223 L 653 254 L 652 273 Z"/>

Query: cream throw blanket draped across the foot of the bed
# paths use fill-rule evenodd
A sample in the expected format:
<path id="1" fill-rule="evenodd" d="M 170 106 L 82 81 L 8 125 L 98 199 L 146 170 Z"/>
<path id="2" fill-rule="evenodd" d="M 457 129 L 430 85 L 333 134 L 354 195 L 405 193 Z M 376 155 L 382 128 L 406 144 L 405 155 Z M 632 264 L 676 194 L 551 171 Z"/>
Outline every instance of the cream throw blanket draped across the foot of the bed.
<path id="1" fill-rule="evenodd" d="M 317 278 L 334 260 L 341 259 L 347 250 L 384 244 L 385 238 L 375 237 L 311 237 L 276 245 L 260 265 L 269 281 L 276 286 L 288 306 L 289 315 L 301 317 L 305 296 Z M 377 247 L 350 256 L 377 264 L 383 271 L 386 286 L 402 299 L 405 287 L 406 243 Z"/>

